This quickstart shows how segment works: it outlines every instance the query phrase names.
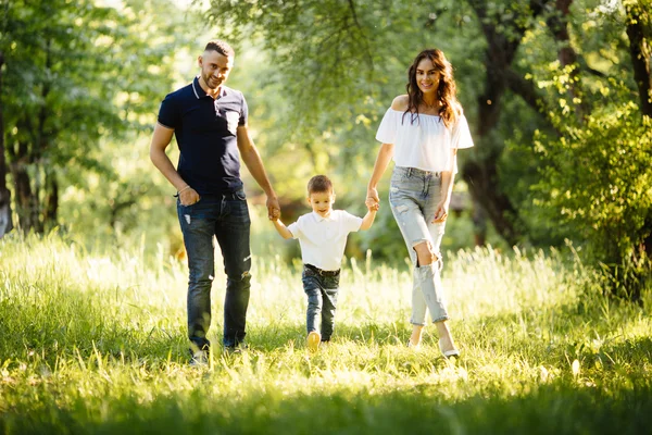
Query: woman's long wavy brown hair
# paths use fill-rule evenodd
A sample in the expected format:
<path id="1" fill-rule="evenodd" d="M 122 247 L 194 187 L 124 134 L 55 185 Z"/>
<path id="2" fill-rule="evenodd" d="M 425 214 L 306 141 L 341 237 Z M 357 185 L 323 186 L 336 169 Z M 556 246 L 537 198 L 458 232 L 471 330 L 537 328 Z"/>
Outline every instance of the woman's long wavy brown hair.
<path id="1" fill-rule="evenodd" d="M 437 100 L 441 104 L 439 110 L 439 116 L 443 121 L 447 127 L 451 127 L 457 121 L 457 116 L 462 114 L 462 105 L 457 101 L 457 86 L 453 78 L 453 66 L 446 59 L 443 52 L 438 49 L 427 49 L 418 53 L 418 55 L 412 62 L 410 70 L 408 71 L 408 110 L 403 113 L 403 117 L 408 113 L 411 115 L 411 124 L 414 124 L 414 119 L 418 119 L 418 107 L 423 102 L 424 92 L 418 88 L 416 84 L 416 69 L 418 63 L 424 59 L 432 61 L 432 65 L 439 73 L 439 86 L 437 87 Z"/>

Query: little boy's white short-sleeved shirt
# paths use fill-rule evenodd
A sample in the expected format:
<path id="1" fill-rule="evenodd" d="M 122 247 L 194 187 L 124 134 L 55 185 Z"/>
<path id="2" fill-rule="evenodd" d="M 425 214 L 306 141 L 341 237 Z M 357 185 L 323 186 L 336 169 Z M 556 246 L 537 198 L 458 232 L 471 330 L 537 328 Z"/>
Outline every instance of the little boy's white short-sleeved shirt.
<path id="1" fill-rule="evenodd" d="M 362 225 L 362 217 L 344 210 L 333 210 L 330 216 L 322 217 L 314 211 L 299 216 L 288 225 L 292 238 L 299 239 L 303 263 L 325 271 L 340 269 L 347 236 Z"/>

